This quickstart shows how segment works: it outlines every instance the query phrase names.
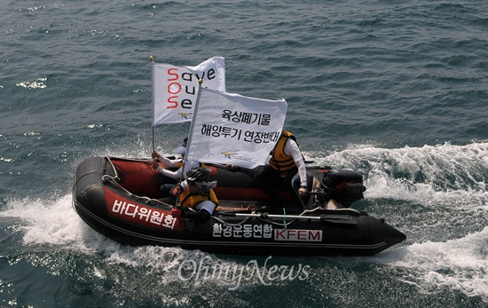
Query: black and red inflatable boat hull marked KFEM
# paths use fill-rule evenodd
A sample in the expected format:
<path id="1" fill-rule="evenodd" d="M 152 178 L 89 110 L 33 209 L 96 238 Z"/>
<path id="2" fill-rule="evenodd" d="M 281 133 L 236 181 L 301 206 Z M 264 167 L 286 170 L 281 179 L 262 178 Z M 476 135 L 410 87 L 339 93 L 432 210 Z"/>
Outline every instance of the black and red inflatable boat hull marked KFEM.
<path id="1" fill-rule="evenodd" d="M 138 172 L 122 176 L 118 162 L 137 164 Z M 151 163 L 107 157 L 81 162 L 73 192 L 78 215 L 98 233 L 122 244 L 178 246 L 222 254 L 373 256 L 405 241 L 404 233 L 355 209 L 262 207 L 265 195 L 258 194 L 255 199 L 259 200 L 253 201 L 248 192 L 256 187 L 249 184 L 245 201 L 226 202 L 223 193 L 216 192 L 219 200 L 232 207 L 216 209 L 206 223 L 172 217 L 172 205 L 153 198 L 160 181 Z M 129 181 L 138 187 L 127 190 L 121 186 Z"/>

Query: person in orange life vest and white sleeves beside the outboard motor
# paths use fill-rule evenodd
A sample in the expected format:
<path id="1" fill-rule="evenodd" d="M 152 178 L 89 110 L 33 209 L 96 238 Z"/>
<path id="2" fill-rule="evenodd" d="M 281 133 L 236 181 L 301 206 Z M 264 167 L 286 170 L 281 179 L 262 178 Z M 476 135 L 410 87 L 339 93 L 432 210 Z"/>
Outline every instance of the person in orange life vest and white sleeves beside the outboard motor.
<path id="1" fill-rule="evenodd" d="M 303 206 L 304 198 L 309 193 L 307 169 L 295 136 L 291 132 L 283 130 L 271 155 L 269 164 L 256 173 L 254 177 L 256 185 L 271 197 L 271 207 L 282 207 L 284 205 L 284 201 L 278 193 L 281 183 L 290 193 L 294 205 L 296 207 Z M 300 178 L 298 194 L 294 186 L 297 178 Z"/>

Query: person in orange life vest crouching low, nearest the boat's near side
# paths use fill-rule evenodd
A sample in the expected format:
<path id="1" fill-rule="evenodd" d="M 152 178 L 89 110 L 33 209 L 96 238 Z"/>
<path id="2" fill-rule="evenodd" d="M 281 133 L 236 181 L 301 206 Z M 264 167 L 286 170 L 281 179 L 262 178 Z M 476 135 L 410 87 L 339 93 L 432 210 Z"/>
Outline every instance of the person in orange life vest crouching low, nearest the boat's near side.
<path id="1" fill-rule="evenodd" d="M 185 173 L 185 180 L 174 190 L 178 197 L 177 208 L 172 210 L 173 217 L 186 217 L 196 223 L 209 220 L 218 205 L 212 188 L 216 181 L 210 181 L 209 170 L 197 167 Z"/>

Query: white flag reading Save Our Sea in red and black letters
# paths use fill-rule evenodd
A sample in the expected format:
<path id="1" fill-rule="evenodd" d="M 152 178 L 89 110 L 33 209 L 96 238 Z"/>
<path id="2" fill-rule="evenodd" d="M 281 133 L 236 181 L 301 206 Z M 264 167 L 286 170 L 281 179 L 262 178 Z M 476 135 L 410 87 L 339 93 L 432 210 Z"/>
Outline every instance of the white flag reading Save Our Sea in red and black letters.
<path id="1" fill-rule="evenodd" d="M 204 88 L 225 91 L 222 57 L 210 58 L 196 67 L 153 63 L 152 70 L 153 125 L 192 121 L 199 79 Z"/>

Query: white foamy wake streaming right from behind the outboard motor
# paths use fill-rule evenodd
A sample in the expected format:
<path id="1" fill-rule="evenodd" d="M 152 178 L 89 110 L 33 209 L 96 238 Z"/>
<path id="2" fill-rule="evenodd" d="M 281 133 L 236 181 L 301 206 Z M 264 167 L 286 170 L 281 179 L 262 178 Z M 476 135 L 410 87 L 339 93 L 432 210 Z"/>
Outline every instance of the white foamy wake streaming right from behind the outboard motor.
<path id="1" fill-rule="evenodd" d="M 365 177 L 367 199 L 488 204 L 488 142 L 393 149 L 355 145 L 312 159 L 319 165 L 357 170 Z"/>

